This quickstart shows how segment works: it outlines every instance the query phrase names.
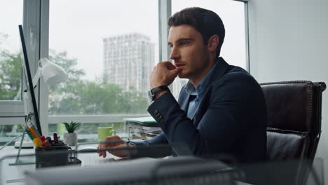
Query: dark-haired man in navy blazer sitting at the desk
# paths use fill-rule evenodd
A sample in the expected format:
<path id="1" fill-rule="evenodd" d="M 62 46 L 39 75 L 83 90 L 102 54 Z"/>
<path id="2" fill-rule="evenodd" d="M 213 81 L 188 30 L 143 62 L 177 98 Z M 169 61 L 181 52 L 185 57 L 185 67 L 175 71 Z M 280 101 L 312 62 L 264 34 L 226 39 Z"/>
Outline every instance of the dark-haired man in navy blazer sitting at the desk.
<path id="1" fill-rule="evenodd" d="M 240 67 L 219 57 L 224 25 L 219 16 L 203 8 L 186 8 L 168 20 L 171 62 L 159 62 L 151 74 L 153 102 L 149 114 L 163 133 L 149 141 L 128 143 L 135 156 L 147 156 L 140 146 L 186 144 L 195 156 L 228 154 L 240 162 L 266 156 L 266 103 L 261 87 Z M 175 78 L 188 78 L 177 102 L 168 90 Z M 106 141 L 122 141 L 118 136 Z M 123 142 L 123 141 L 122 141 Z M 125 144 L 100 144 L 98 149 Z M 156 151 L 156 149 L 153 149 Z M 109 151 L 128 156 L 128 151 Z M 184 155 L 178 147 L 172 152 Z M 165 153 L 170 154 L 170 153 Z M 99 152 L 106 156 L 105 151 Z M 149 153 L 148 156 L 156 156 Z"/>

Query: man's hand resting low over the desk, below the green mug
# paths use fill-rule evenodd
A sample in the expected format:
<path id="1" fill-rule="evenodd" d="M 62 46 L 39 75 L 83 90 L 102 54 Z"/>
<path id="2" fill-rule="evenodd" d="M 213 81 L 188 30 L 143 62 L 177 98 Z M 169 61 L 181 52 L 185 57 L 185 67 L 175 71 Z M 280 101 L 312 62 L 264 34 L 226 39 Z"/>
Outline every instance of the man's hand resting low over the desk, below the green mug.
<path id="1" fill-rule="evenodd" d="M 108 151 L 109 153 L 120 158 L 135 155 L 135 146 L 133 144 L 125 144 L 125 142 L 121 139 L 121 137 L 118 137 L 118 135 L 106 137 L 104 142 L 113 143 L 99 144 L 97 147 L 98 150 L 110 149 Z M 127 149 L 127 147 L 129 147 L 129 149 Z M 99 153 L 99 156 L 103 156 L 104 158 L 107 156 L 106 151 L 97 151 L 97 153 Z"/>

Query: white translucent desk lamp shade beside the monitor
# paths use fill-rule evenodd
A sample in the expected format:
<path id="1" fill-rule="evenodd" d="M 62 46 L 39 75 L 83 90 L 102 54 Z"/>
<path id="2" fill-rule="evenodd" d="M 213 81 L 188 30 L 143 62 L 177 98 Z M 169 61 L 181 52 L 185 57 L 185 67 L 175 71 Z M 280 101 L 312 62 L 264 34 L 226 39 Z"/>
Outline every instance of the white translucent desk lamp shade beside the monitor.
<path id="1" fill-rule="evenodd" d="M 66 81 L 68 74 L 59 65 L 50 62 L 47 58 L 41 58 L 41 76 L 48 85 L 55 85 Z"/>

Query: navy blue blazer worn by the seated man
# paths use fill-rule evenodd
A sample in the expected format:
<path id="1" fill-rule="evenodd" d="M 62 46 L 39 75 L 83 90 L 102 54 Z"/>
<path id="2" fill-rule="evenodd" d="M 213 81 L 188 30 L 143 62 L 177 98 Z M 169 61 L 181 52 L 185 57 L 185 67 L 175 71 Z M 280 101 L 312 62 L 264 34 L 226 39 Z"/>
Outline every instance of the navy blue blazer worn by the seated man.
<path id="1" fill-rule="evenodd" d="M 261 87 L 244 69 L 227 64 L 222 57 L 217 62 L 192 120 L 186 116 L 189 94 L 185 85 L 178 102 L 165 93 L 149 106 L 149 114 L 163 133 L 135 142 L 137 153 L 138 146 L 183 143 L 200 157 L 228 154 L 240 162 L 265 159 L 267 111 Z M 177 155 L 184 154 L 172 149 Z M 151 157 L 142 153 L 139 151 Z"/>

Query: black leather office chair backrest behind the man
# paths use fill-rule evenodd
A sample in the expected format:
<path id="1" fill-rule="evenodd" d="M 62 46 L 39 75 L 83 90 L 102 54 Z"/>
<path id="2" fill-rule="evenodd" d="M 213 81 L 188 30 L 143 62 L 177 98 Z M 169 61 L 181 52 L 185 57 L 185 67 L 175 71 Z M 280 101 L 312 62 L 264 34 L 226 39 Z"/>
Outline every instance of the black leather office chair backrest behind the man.
<path id="1" fill-rule="evenodd" d="M 283 81 L 261 83 L 268 107 L 267 158 L 298 160 L 295 184 L 305 184 L 321 133 L 325 83 Z"/>

